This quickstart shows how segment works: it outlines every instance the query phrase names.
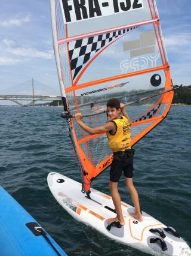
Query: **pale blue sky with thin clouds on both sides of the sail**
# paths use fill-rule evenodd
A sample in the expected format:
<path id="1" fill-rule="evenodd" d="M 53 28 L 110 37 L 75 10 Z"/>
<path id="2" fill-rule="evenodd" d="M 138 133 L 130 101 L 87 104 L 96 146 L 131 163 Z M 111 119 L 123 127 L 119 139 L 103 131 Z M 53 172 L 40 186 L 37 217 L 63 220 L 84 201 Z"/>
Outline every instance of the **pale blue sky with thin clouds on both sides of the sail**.
<path id="1" fill-rule="evenodd" d="M 191 1 L 156 0 L 172 81 L 191 85 Z M 0 94 L 32 77 L 60 95 L 49 0 L 6 0 L 0 8 Z"/>

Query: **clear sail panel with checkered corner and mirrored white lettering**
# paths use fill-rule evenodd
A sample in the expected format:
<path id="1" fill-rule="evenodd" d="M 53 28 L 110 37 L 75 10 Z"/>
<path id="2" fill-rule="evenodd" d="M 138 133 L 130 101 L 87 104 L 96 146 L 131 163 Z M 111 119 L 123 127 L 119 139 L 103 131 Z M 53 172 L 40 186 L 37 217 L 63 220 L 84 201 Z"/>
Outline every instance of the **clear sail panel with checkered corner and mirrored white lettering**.
<path id="1" fill-rule="evenodd" d="M 69 52 L 77 85 L 161 67 L 165 62 L 153 25 L 81 39 L 69 43 Z"/>

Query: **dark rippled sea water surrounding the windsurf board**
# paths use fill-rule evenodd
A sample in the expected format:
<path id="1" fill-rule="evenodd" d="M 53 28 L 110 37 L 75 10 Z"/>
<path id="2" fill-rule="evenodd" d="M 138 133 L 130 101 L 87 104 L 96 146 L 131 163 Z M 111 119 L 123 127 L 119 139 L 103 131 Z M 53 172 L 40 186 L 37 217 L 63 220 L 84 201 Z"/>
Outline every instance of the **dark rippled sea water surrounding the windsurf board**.
<path id="1" fill-rule="evenodd" d="M 68 255 L 144 256 L 73 219 L 47 185 L 51 171 L 81 182 L 59 107 L 0 107 L 0 184 Z M 191 243 L 191 106 L 172 106 L 167 118 L 135 146 L 134 185 L 144 212 Z M 92 186 L 109 194 L 109 170 Z M 121 198 L 131 203 L 123 177 Z M 0 206 L 0 210 L 2 211 Z M 14 214 L 14 213 L 13 213 Z"/>

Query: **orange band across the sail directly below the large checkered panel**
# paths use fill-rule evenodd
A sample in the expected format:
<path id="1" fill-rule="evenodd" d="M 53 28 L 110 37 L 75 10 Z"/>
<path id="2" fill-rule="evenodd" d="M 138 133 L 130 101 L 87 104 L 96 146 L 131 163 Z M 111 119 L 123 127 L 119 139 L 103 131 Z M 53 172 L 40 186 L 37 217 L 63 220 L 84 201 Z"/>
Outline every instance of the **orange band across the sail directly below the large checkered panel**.
<path id="1" fill-rule="evenodd" d="M 147 70 L 140 70 L 140 71 L 136 71 L 136 72 L 132 72 L 132 73 L 128 73 L 128 74 L 122 74 L 122 75 L 119 75 L 119 76 L 107 77 L 105 79 L 99 79 L 99 80 L 88 82 L 88 83 L 82 83 L 78 86 L 69 87 L 65 90 L 65 92 L 67 94 L 68 92 L 73 92 L 73 91 L 76 91 L 76 90 L 79 90 L 79 89 L 82 89 L 82 88 L 87 88 L 89 86 L 98 85 L 100 83 L 107 83 L 107 82 L 115 81 L 115 80 L 118 80 L 118 79 L 124 79 L 124 78 L 127 78 L 127 77 L 138 76 L 138 75 L 141 75 L 141 74 L 146 74 L 146 73 L 155 72 L 155 71 L 159 71 L 159 70 L 166 70 L 167 68 L 169 68 L 168 64 L 163 65 L 161 67 L 148 68 Z"/>

